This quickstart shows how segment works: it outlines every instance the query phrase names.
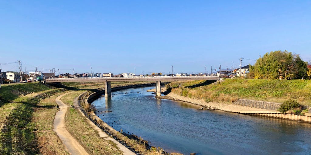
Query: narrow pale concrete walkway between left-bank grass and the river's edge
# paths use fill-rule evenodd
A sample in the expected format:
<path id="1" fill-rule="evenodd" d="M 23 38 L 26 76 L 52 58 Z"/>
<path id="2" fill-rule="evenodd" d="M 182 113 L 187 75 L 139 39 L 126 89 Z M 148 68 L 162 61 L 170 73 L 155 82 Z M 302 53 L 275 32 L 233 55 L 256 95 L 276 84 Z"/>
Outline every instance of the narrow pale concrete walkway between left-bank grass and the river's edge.
<path id="1" fill-rule="evenodd" d="M 83 92 L 84 93 L 84 92 Z M 79 95 L 80 96 L 80 95 Z M 79 96 L 76 97 L 74 100 L 73 100 L 73 105 L 75 107 L 79 107 L 78 105 L 78 99 L 79 99 Z M 77 108 L 78 111 L 80 111 L 80 113 L 84 115 L 84 113 L 82 113 L 82 111 L 80 110 L 80 108 Z M 93 113 L 94 114 L 94 113 Z M 95 114 L 94 114 L 95 115 Z M 98 132 L 99 136 L 100 137 L 103 137 L 104 139 L 106 140 L 111 140 L 113 141 L 115 144 L 118 145 L 118 148 L 119 150 L 123 151 L 124 155 L 136 155 L 135 153 L 133 153 L 131 150 L 129 150 L 127 147 L 125 147 L 124 145 L 122 145 L 121 143 L 119 143 L 117 140 L 111 138 L 109 135 L 107 135 L 104 131 L 102 131 L 98 126 L 96 126 L 89 118 L 86 117 L 86 121 L 92 126 L 92 128 Z"/>

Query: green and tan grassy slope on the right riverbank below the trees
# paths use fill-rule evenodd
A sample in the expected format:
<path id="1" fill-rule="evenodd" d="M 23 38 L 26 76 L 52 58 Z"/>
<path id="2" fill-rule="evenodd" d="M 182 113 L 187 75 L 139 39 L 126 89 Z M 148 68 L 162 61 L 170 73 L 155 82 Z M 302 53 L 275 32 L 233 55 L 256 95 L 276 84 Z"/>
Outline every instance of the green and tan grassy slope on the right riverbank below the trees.
<path id="1" fill-rule="evenodd" d="M 172 82 L 172 92 L 207 102 L 232 103 L 238 99 L 282 103 L 295 99 L 300 104 L 311 103 L 311 80 L 224 79 L 207 86 L 200 81 Z M 198 87 L 190 88 L 194 85 Z"/>

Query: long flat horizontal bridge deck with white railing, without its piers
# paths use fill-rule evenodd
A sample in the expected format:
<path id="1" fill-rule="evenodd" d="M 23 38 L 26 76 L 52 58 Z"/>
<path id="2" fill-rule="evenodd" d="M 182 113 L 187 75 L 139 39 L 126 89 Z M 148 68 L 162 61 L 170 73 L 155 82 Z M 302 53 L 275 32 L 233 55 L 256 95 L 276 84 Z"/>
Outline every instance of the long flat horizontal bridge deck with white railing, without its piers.
<path id="1" fill-rule="evenodd" d="M 219 77 L 101 77 L 101 78 L 54 78 L 46 79 L 53 82 L 126 82 L 126 81 L 186 81 L 186 80 L 219 80 Z"/>

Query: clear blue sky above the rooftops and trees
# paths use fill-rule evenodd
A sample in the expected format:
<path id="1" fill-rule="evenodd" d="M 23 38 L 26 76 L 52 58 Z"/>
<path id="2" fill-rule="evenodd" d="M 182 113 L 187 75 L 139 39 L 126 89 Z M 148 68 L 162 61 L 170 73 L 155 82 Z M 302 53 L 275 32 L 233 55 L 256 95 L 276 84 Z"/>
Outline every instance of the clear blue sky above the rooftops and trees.
<path id="1" fill-rule="evenodd" d="M 204 73 L 276 50 L 311 61 L 311 1 L 0 1 L 0 64 L 27 72 Z"/>

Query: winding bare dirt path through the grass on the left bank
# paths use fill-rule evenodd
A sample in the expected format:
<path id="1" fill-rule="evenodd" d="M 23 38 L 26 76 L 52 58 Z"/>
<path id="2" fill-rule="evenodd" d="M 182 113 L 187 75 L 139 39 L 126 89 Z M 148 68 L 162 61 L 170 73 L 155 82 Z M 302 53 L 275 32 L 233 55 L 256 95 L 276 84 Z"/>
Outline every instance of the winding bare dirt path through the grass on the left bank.
<path id="1" fill-rule="evenodd" d="M 68 92 L 70 93 L 70 92 Z M 72 155 L 89 155 L 85 148 L 81 146 L 81 144 L 69 133 L 65 126 L 65 113 L 67 111 L 67 106 L 60 99 L 68 94 L 65 93 L 56 98 L 56 103 L 59 106 L 59 111 L 56 113 L 54 118 L 54 131 L 57 133 L 58 137 L 63 141 L 65 147 L 68 149 L 69 153 Z"/>

